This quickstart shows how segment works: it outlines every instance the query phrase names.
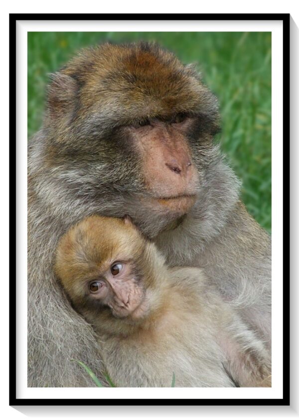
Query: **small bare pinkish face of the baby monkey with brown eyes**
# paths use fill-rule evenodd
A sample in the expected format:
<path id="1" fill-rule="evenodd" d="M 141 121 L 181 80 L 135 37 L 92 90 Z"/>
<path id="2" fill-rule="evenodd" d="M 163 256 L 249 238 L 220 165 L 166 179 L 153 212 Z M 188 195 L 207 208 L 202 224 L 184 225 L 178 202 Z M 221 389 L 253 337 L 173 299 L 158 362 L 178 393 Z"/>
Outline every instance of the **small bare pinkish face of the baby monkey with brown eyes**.
<path id="1" fill-rule="evenodd" d="M 88 297 L 108 306 L 115 317 L 138 318 L 144 310 L 144 288 L 134 274 L 133 262 L 113 262 L 96 280 L 88 282 Z"/>

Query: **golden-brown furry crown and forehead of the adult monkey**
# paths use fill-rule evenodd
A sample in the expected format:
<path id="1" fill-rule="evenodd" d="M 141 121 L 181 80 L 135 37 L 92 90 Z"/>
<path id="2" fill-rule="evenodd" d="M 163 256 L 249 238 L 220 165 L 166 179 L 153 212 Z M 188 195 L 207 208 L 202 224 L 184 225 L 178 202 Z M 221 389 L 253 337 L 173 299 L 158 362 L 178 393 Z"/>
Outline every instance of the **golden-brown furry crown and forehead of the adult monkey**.
<path id="1" fill-rule="evenodd" d="M 82 50 L 61 73 L 77 82 L 80 106 L 99 117 L 170 117 L 178 112 L 217 115 L 217 101 L 194 66 L 153 43 L 103 44 Z M 111 113 L 111 108 L 113 112 Z M 82 117 L 82 116 L 81 116 Z"/>

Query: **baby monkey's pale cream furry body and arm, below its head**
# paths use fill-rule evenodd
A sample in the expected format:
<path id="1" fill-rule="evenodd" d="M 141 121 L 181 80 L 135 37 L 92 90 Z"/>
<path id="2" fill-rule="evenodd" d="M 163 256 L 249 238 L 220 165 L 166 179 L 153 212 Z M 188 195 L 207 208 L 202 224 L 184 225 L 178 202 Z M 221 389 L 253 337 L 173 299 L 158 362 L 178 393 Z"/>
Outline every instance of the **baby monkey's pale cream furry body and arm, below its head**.
<path id="1" fill-rule="evenodd" d="M 205 284 L 201 270 L 160 272 L 163 286 L 154 292 L 163 295 L 166 290 L 168 303 L 177 293 L 181 305 L 176 303 L 173 314 L 166 311 L 164 318 L 155 320 L 163 330 L 158 345 L 156 337 L 145 347 L 136 338 L 103 333 L 100 352 L 118 387 L 170 387 L 172 371 L 175 387 L 262 387 L 264 380 L 268 387 L 269 351 L 215 289 Z M 93 319 L 97 328 L 95 316 Z M 101 330 L 100 316 L 98 328 Z"/>

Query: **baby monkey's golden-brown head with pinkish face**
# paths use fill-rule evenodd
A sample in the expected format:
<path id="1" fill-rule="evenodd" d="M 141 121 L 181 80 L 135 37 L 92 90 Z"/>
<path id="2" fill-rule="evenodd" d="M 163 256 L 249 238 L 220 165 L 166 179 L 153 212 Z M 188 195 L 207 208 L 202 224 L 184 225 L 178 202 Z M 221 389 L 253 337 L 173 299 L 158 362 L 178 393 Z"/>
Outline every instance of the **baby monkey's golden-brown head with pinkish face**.
<path id="1" fill-rule="evenodd" d="M 61 238 L 56 273 L 85 315 L 107 315 L 108 309 L 114 317 L 141 320 L 150 309 L 147 247 L 153 249 L 129 218 L 93 215 Z"/>

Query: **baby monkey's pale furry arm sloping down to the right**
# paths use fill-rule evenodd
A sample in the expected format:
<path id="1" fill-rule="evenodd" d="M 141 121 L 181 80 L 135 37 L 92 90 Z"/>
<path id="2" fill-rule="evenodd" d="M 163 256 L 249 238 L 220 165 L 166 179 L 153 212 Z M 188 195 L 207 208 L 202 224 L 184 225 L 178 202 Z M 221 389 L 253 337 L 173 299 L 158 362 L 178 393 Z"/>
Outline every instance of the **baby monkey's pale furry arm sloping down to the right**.
<path id="1" fill-rule="evenodd" d="M 184 290 L 185 305 L 197 323 L 213 334 L 228 377 L 240 387 L 271 387 L 271 354 L 265 342 L 208 283 L 203 269 L 173 267 L 169 272 L 175 286 Z M 199 329 L 199 341 L 202 333 Z"/>

